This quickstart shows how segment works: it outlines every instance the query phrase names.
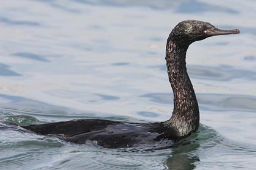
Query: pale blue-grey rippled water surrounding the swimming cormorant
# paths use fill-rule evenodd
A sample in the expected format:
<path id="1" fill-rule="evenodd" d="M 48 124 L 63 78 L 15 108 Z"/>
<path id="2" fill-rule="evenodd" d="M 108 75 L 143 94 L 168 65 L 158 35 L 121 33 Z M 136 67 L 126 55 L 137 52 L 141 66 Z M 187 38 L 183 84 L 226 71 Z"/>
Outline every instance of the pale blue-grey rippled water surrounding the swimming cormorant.
<path id="1" fill-rule="evenodd" d="M 0 169 L 255 169 L 254 1 L 0 4 L 0 120 L 20 125 L 167 120 L 173 105 L 165 44 L 174 25 L 197 19 L 241 32 L 188 50 L 201 126 L 177 146 L 106 149 L 8 126 L 0 131 Z"/>

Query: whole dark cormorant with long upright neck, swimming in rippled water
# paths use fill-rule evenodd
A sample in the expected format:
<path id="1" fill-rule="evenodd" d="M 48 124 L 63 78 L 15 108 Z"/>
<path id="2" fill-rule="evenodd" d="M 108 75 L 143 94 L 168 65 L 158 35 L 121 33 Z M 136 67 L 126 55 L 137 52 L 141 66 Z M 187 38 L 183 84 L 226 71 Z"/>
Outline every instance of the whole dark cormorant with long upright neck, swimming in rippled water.
<path id="1" fill-rule="evenodd" d="M 182 21 L 172 29 L 166 44 L 166 65 L 174 93 L 174 110 L 169 120 L 159 123 L 127 123 L 87 119 L 22 126 L 42 135 L 56 135 L 73 143 L 94 141 L 106 148 L 126 148 L 169 143 L 185 138 L 199 127 L 199 107 L 186 69 L 188 46 L 214 35 L 236 34 L 219 30 L 202 21 Z"/>

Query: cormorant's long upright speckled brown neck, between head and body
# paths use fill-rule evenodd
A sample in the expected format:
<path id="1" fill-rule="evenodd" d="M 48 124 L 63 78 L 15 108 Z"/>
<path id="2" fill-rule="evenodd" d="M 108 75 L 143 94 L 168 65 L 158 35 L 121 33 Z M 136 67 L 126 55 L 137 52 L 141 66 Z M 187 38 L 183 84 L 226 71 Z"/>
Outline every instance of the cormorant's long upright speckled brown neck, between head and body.
<path id="1" fill-rule="evenodd" d="M 181 138 L 190 135 L 199 127 L 196 94 L 186 68 L 187 49 L 188 45 L 180 46 L 168 38 L 165 59 L 174 94 L 174 109 L 172 117 L 165 121 L 165 126 L 172 131 L 171 135 Z"/>

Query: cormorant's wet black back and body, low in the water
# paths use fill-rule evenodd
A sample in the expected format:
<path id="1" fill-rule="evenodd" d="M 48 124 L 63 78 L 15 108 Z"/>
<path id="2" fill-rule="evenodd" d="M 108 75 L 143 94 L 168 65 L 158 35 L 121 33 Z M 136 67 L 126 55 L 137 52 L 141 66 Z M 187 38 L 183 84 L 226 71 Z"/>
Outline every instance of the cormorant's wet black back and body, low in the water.
<path id="1" fill-rule="evenodd" d="M 98 144 L 106 148 L 127 148 L 166 143 L 162 123 L 124 123 L 86 119 L 23 126 L 42 135 L 57 135 L 72 143 Z"/>

